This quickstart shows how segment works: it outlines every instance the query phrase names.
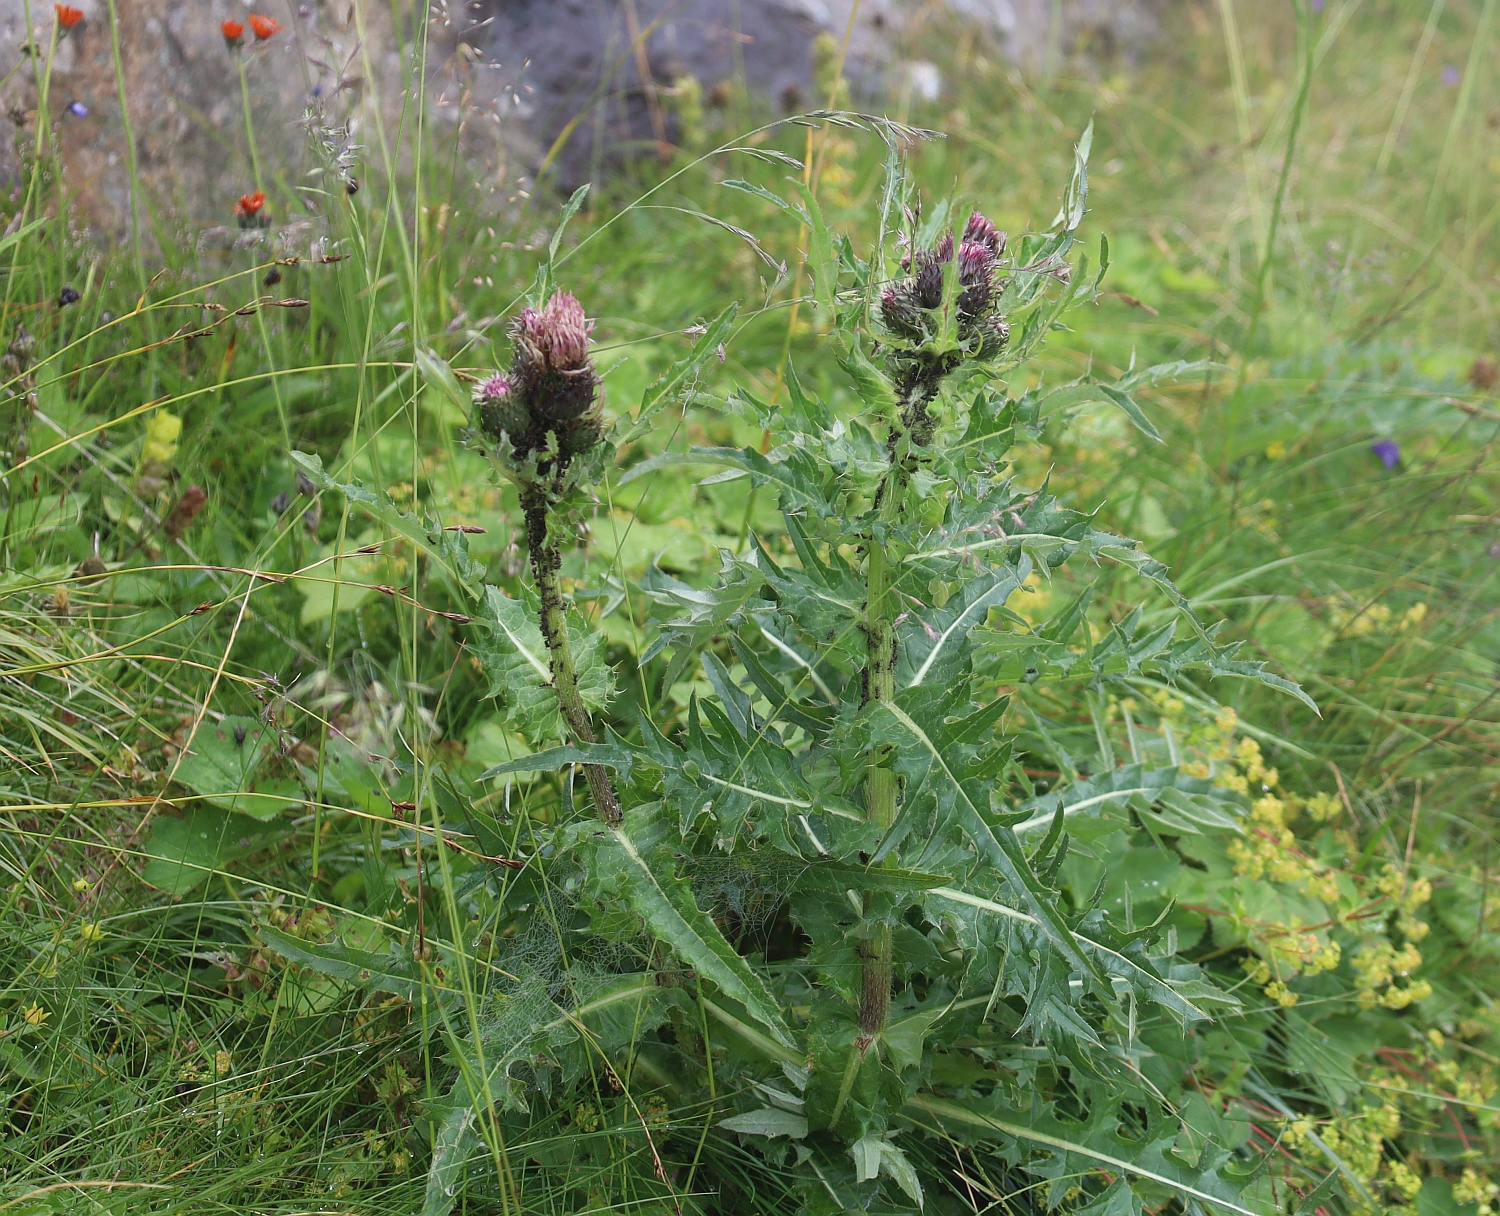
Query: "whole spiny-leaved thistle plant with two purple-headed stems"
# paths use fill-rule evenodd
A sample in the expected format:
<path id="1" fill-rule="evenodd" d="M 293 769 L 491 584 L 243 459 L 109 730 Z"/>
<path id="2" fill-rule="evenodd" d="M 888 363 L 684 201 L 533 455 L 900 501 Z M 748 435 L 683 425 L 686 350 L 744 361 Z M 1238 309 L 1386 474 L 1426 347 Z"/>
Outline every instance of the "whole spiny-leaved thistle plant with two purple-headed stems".
<path id="1" fill-rule="evenodd" d="M 1066 682 L 1102 706 L 1124 679 L 1170 684 L 1198 670 L 1300 693 L 1220 645 L 1136 541 L 1095 528 L 1046 486 L 1020 484 L 1008 462 L 1017 442 L 1088 402 L 1119 406 L 1158 438 L 1132 390 L 1200 364 L 1012 396 L 1014 369 L 1068 307 L 1095 298 L 1102 277 L 1102 241 L 1092 276 L 1088 256 L 1070 256 L 1088 136 L 1050 231 L 1012 243 L 980 211 L 940 202 L 922 214 L 886 133 L 867 256 L 828 231 L 812 192 L 801 198 L 818 307 L 860 402 L 854 415 L 789 367 L 784 405 L 744 387 L 718 399 L 770 433 L 766 453 L 669 451 L 621 478 L 720 466 L 777 493 L 789 541 L 782 558 L 759 537 L 723 553 L 708 589 L 660 571 L 642 586 L 658 612 L 642 661 L 664 661 L 666 685 L 700 669 L 714 696 L 694 697 L 686 723 L 642 715 L 634 742 L 597 739 L 558 585 L 561 538 L 576 531 L 568 513 L 614 444 L 588 357 L 591 322 L 572 295 L 550 294 L 544 270 L 512 328 L 510 369 L 483 381 L 474 403 L 478 442 L 520 493 L 548 691 L 570 742 L 486 777 L 585 765 L 603 825 L 560 823 L 550 864 L 580 876 L 570 879 L 576 930 L 624 943 L 646 970 L 596 978 L 586 991 L 618 996 L 576 1003 L 567 1017 L 590 1027 L 590 1050 L 650 1047 L 666 1092 L 711 1105 L 724 1066 L 710 1041 L 728 1039 L 742 1098 L 720 1128 L 792 1170 L 806 1210 L 921 1206 L 922 1180 L 950 1171 L 939 1162 L 956 1135 L 1012 1146 L 1002 1152 L 1032 1173 L 1072 1177 L 1104 1164 L 1190 1204 L 1245 1210 L 1221 1158 L 1164 1164 L 1162 1144 L 1178 1134 L 1170 1110 L 1138 1069 L 1108 1063 L 1110 1051 L 1137 1057 L 1143 1026 L 1158 1033 L 1172 1023 L 1191 1036 L 1234 997 L 1179 960 L 1160 924 L 1107 916 L 1098 892 L 1090 901 L 1059 877 L 1076 835 L 1122 822 L 1168 835 L 1234 832 L 1244 807 L 1172 757 L 1118 769 L 1102 717 L 1092 777 L 1066 759 L 1059 766 L 1074 783 L 1040 790 L 1024 751 L 1046 744 L 1023 735 L 1026 690 Z M 730 316 L 648 393 L 632 435 L 696 378 Z M 1146 628 L 1137 607 L 1095 636 L 1086 580 L 1046 622 L 1030 625 L 1010 606 L 1078 558 L 1136 571 L 1166 597 L 1170 619 Z M 513 715 L 534 679 L 518 607 L 489 594 L 483 651 Z M 597 645 L 592 654 L 597 670 Z M 800 945 L 776 960 L 744 955 L 724 930 L 742 916 L 730 910 L 748 906 L 777 909 Z M 525 1008 L 522 993 L 510 991 L 504 1011 Z M 618 1026 L 597 1020 L 616 999 L 634 1009 L 618 1042 Z M 567 1056 L 556 1035 L 524 1023 L 496 1015 L 462 1050 L 429 1212 L 446 1210 L 444 1188 L 480 1132 L 500 1162 L 496 1093 L 520 1110 L 528 1075 L 546 1090 L 558 1069 L 591 1068 L 588 1050 Z M 1101 1054 L 1106 1042 L 1114 1047 Z M 1052 1063 L 1038 1071 L 1038 1059 Z M 945 1080 L 954 1068 L 978 1072 Z M 1064 1119 L 1059 1086 L 1078 1095 L 1082 1123 Z M 1128 1143 L 1114 1134 L 1126 1107 L 1148 1113 L 1144 1134 Z M 480 1113 L 490 1123 L 480 1119 L 476 1132 Z M 794 1159 L 776 1147 L 780 1137 L 798 1143 Z"/>

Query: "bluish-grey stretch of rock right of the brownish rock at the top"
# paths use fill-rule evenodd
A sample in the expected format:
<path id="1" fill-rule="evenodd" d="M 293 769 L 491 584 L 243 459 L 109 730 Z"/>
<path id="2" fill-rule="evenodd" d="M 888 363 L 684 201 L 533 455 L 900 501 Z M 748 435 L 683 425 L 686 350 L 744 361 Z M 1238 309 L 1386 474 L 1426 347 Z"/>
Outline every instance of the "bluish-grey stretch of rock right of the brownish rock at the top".
<path id="1" fill-rule="evenodd" d="M 1047 72 L 1080 48 L 1134 57 L 1156 33 L 1162 0 L 948 0 L 1017 64 Z M 536 162 L 562 184 L 598 178 L 622 156 L 680 136 L 670 90 L 742 81 L 783 112 L 825 103 L 813 85 L 813 39 L 850 34 L 846 75 L 879 106 L 892 87 L 940 96 L 930 63 L 902 43 L 933 6 L 915 0 L 474 0 L 465 31 L 492 69 L 486 88 L 514 96 Z M 560 141 L 561 136 L 561 141 Z"/>

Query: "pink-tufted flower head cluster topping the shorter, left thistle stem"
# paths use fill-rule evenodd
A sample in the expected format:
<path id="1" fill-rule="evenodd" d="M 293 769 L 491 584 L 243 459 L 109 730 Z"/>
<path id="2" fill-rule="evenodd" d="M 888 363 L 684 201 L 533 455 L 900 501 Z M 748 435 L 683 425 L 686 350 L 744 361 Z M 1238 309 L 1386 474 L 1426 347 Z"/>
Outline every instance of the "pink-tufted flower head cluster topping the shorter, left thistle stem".
<path id="1" fill-rule="evenodd" d="M 538 472 L 558 472 L 604 436 L 598 372 L 588 357 L 594 322 L 560 291 L 538 309 L 525 309 L 510 327 L 510 370 L 474 393 L 480 430 L 510 441 L 514 466 L 537 457 Z M 548 436 L 555 436 L 554 444 Z"/>

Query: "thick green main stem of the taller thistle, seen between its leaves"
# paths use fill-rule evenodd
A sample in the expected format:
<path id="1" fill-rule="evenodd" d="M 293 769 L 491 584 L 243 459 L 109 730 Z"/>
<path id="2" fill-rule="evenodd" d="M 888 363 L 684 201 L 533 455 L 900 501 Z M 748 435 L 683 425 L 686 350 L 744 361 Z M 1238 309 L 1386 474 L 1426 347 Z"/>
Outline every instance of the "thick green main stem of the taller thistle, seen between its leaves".
<path id="1" fill-rule="evenodd" d="M 900 517 L 906 498 L 908 469 L 900 459 L 892 460 L 880 486 L 874 520 L 870 528 L 866 556 L 866 703 L 890 702 L 896 697 L 896 624 L 891 583 L 894 571 L 885 553 L 885 525 Z M 880 831 L 896 823 L 897 780 L 894 748 L 882 744 L 870 756 L 870 772 L 864 784 L 864 813 Z M 866 892 L 866 909 L 874 900 Z M 885 1029 L 891 1012 L 891 928 L 880 925 L 860 946 L 860 1035 L 866 1045 Z"/>

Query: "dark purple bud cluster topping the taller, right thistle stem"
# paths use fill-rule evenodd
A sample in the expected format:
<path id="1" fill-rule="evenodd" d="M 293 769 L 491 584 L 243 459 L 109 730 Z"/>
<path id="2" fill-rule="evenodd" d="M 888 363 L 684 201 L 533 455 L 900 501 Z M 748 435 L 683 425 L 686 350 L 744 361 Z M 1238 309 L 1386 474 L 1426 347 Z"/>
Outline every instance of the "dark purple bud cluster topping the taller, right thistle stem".
<path id="1" fill-rule="evenodd" d="M 915 249 L 902 259 L 906 277 L 880 292 L 880 319 L 908 349 L 894 360 L 897 393 L 904 423 L 918 442 L 930 438 L 927 403 L 938 394 L 938 384 L 964 358 L 994 358 L 1010 337 L 1010 325 L 994 310 L 1004 280 L 999 276 L 1005 253 L 1005 234 L 975 211 L 958 241 L 957 310 L 958 349 L 932 346 L 942 322 L 944 283 L 954 259 L 952 235 L 944 235 L 936 249 Z"/>

